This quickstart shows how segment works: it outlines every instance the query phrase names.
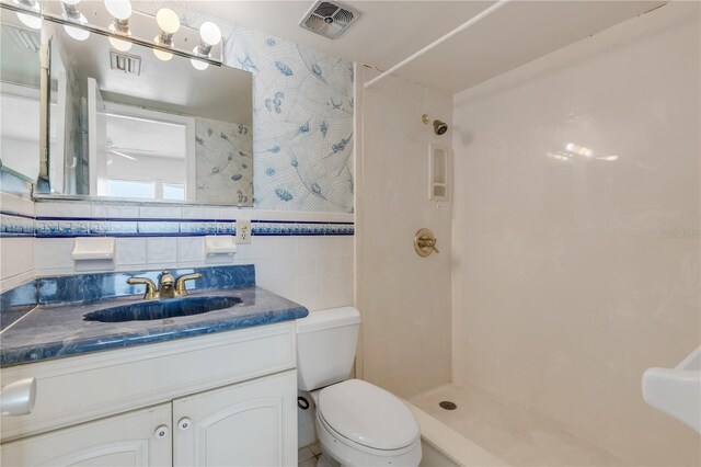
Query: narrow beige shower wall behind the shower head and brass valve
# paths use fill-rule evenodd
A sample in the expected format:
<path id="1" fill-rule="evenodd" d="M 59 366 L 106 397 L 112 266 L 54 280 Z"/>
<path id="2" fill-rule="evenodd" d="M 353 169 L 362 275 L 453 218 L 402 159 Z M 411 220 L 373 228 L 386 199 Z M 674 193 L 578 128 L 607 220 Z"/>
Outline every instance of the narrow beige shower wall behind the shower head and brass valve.
<path id="1" fill-rule="evenodd" d="M 360 83 L 378 73 L 357 67 Z M 428 200 L 424 113 L 450 125 L 452 96 L 389 77 L 356 91 L 356 304 L 363 314 L 358 376 L 403 397 L 450 380 L 450 205 Z M 439 254 L 413 247 L 422 227 Z"/>

